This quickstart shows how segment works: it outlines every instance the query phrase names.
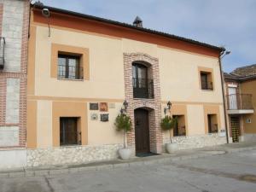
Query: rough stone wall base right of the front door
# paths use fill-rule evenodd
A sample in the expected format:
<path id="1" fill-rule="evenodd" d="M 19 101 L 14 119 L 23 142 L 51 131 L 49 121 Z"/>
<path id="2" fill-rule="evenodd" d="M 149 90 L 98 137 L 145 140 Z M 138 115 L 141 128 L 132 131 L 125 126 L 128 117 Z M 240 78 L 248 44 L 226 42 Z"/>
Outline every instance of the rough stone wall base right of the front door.
<path id="1" fill-rule="evenodd" d="M 202 136 L 172 137 L 172 142 L 177 143 L 179 150 L 189 148 L 203 148 L 227 143 L 226 137 L 219 137 L 218 133 Z M 165 139 L 164 143 L 170 143 L 170 139 Z"/>

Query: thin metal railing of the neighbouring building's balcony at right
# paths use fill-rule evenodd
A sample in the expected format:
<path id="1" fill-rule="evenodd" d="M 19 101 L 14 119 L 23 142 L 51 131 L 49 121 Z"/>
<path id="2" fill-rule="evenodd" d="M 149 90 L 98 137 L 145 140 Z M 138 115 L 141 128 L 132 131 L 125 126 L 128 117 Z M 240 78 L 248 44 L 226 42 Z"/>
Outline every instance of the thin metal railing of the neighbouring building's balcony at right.
<path id="1" fill-rule="evenodd" d="M 252 96 L 252 94 L 228 95 L 228 110 L 253 109 Z"/>

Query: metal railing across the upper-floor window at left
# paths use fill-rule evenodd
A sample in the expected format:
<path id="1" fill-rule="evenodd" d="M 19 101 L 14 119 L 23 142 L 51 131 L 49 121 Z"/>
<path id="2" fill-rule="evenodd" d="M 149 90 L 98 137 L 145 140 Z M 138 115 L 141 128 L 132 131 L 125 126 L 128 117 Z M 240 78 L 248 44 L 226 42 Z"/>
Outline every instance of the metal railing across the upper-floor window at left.
<path id="1" fill-rule="evenodd" d="M 83 67 L 58 65 L 58 79 L 84 79 Z"/>

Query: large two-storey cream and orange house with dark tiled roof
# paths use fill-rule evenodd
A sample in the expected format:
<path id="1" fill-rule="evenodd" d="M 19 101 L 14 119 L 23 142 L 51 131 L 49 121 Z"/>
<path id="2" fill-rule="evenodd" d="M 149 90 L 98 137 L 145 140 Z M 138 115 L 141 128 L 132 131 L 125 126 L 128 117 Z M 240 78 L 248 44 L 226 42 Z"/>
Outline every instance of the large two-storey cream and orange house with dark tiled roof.
<path id="1" fill-rule="evenodd" d="M 31 13 L 27 166 L 117 157 L 114 119 L 123 102 L 134 154 L 161 154 L 168 101 L 180 149 L 226 143 L 219 67 L 223 48 L 63 9 Z M 44 14 L 47 15 L 47 10 Z M 172 134 L 173 135 L 173 134 Z"/>

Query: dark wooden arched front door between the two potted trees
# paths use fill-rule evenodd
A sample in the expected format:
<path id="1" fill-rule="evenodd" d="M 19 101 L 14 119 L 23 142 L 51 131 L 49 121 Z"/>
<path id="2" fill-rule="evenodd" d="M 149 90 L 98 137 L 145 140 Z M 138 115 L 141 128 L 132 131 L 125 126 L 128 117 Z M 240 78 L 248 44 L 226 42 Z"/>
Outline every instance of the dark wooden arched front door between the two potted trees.
<path id="1" fill-rule="evenodd" d="M 148 111 L 138 108 L 134 111 L 136 154 L 149 153 Z"/>

